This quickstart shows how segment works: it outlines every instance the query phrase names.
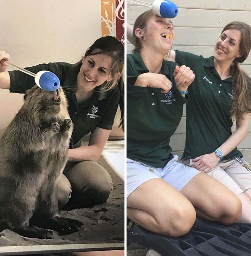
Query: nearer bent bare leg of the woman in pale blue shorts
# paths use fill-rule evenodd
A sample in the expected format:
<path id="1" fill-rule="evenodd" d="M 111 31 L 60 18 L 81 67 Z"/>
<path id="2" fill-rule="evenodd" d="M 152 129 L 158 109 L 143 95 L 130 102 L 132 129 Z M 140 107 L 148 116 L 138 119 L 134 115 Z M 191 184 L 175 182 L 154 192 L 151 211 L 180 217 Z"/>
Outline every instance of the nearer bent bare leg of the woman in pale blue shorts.
<path id="1" fill-rule="evenodd" d="M 178 237 L 192 227 L 192 204 L 160 178 L 139 186 L 127 199 L 127 217 L 154 233 Z"/>

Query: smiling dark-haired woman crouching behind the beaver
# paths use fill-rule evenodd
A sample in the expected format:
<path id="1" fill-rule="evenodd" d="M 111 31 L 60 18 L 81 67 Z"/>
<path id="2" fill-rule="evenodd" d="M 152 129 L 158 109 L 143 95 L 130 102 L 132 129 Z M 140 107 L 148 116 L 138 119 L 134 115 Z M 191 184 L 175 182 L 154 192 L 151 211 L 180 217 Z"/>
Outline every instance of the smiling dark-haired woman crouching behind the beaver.
<path id="1" fill-rule="evenodd" d="M 24 93 L 34 82 L 20 71 L 5 71 L 8 60 L 9 55 L 0 52 L 0 88 Z M 49 70 L 59 77 L 74 124 L 68 162 L 58 182 L 59 207 L 67 204 L 65 209 L 73 209 L 105 202 L 112 189 L 112 180 L 95 161 L 110 134 L 122 92 L 122 43 L 111 36 L 101 37 L 76 64 L 57 62 L 27 69 L 34 73 Z M 89 145 L 81 146 L 81 139 L 89 132 Z"/>

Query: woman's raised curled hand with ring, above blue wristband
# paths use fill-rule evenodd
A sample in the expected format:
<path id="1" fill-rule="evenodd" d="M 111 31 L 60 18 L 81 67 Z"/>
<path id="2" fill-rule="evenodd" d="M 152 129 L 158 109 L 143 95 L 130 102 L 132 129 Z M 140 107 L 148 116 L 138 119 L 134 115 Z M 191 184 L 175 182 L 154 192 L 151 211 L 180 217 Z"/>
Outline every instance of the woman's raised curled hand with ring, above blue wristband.
<path id="1" fill-rule="evenodd" d="M 193 71 L 185 66 L 176 66 L 173 72 L 174 80 L 176 81 L 177 89 L 187 91 L 188 86 L 193 82 L 195 74 Z"/>

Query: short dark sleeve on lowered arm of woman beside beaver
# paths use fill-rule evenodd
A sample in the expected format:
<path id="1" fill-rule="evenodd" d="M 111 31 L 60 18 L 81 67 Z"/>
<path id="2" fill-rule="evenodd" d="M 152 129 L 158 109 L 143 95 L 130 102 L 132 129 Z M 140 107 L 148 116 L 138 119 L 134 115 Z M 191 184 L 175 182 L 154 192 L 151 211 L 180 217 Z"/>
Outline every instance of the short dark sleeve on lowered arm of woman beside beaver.
<path id="1" fill-rule="evenodd" d="M 110 96 L 109 103 L 107 104 L 107 107 L 106 107 L 100 121 L 96 125 L 96 127 L 106 129 L 106 130 L 112 129 L 112 125 L 113 125 L 114 118 L 115 118 L 117 108 L 118 108 L 119 98 L 120 98 L 120 91 L 119 91 L 118 87 L 116 86 L 113 90 L 113 93 Z"/>

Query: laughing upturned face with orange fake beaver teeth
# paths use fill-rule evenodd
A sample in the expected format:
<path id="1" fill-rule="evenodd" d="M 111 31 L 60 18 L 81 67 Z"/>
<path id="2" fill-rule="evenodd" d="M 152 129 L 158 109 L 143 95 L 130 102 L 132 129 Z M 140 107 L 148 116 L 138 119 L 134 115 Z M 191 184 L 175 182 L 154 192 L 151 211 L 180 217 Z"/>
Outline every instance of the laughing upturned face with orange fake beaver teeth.
<path id="1" fill-rule="evenodd" d="M 173 24 L 169 19 L 160 16 L 150 18 L 147 21 L 146 29 L 142 33 L 145 45 L 155 51 L 163 50 L 163 53 L 166 54 L 171 49 L 174 31 Z"/>

